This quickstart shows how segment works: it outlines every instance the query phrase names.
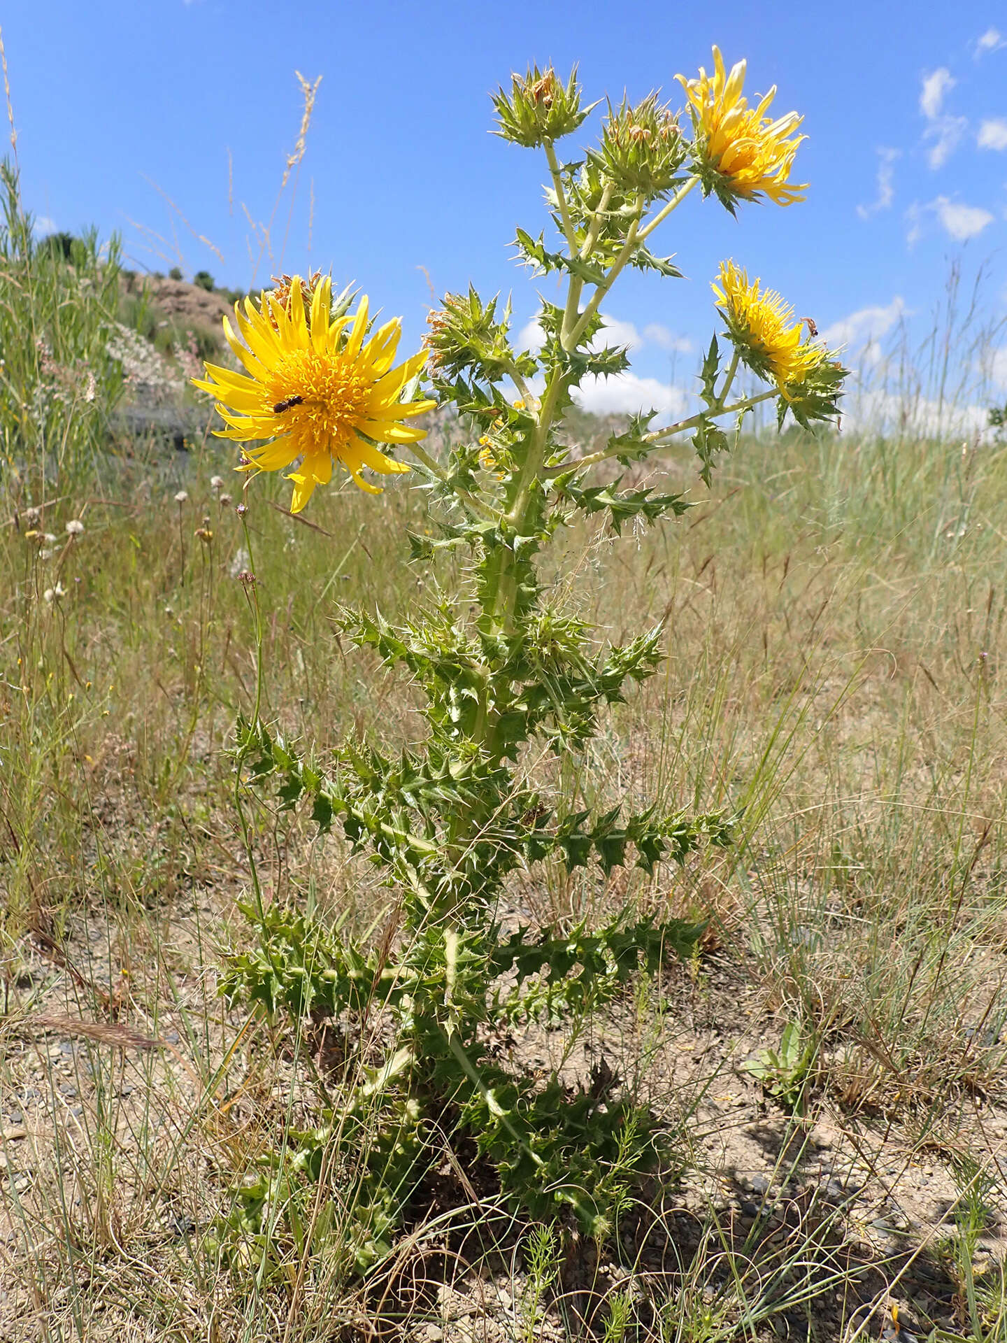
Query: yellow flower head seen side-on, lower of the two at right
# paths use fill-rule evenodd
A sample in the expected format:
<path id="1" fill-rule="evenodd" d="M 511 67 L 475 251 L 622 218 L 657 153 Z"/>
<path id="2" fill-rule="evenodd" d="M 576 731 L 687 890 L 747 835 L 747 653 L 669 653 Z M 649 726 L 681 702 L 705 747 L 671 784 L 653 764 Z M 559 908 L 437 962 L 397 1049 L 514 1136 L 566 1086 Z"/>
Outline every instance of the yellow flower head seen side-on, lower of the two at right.
<path id="1" fill-rule="evenodd" d="M 824 345 L 802 342 L 803 322 L 794 321 L 794 309 L 772 289 L 760 293 L 760 281 L 733 261 L 720 263 L 720 285 L 713 285 L 717 306 L 738 353 L 760 377 L 772 377 L 780 391 L 804 383 L 827 356 Z"/>

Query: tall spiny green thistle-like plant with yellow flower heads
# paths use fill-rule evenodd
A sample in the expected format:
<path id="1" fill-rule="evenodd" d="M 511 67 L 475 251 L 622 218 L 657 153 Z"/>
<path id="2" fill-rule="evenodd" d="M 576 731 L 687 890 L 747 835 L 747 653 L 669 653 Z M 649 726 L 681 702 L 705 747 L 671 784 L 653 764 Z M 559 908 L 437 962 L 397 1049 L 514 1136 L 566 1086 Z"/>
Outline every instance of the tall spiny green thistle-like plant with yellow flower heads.
<path id="1" fill-rule="evenodd" d="M 603 463 L 650 461 L 689 432 L 709 482 L 730 446 L 722 422 L 737 430 L 759 402 L 775 399 L 780 423 L 787 414 L 804 426 L 836 415 L 838 363 L 814 333 L 804 336 L 779 295 L 725 263 L 716 294 L 730 355 L 722 367 L 714 336 L 696 414 L 661 427 L 642 408 L 585 455 L 561 436 L 583 380 L 628 367 L 626 349 L 604 342 L 602 316 L 622 273 L 631 266 L 679 275 L 650 239 L 691 189 L 701 185 L 732 211 L 765 184 L 780 204 L 794 199 L 784 189 L 792 145 L 780 149 L 780 128 L 763 122 L 763 105 L 759 115 L 745 113 L 742 66 L 726 89 L 720 60 L 718 73 L 709 94 L 689 86 L 693 140 L 650 95 L 636 106 L 610 103 L 599 142 L 577 163 L 556 150 L 591 110 L 581 106 L 576 71 L 564 82 L 536 67 L 494 98 L 499 134 L 541 148 L 548 163 L 550 235 L 518 230 L 516 243 L 522 261 L 559 278 L 563 290 L 559 302 L 541 301 L 540 349 L 514 342 L 509 305 L 474 289 L 448 294 L 430 317 L 424 400 L 420 361 L 387 372 L 397 326 L 364 344 L 365 304 L 350 322 L 349 297 L 333 304 L 318 277 L 294 277 L 258 308 L 248 301 L 238 314 L 247 345 L 228 329 L 247 376 L 213 369 L 216 381 L 205 384 L 228 407 L 227 435 L 278 435 L 275 447 L 250 450 L 246 469 L 279 469 L 302 451 L 305 463 L 293 473 L 302 506 L 306 479 L 310 488 L 324 483 L 333 465 L 345 463 L 373 489 L 365 467 L 401 470 L 385 453 L 411 453 L 430 514 L 424 535 L 410 537 L 411 555 L 434 594 L 400 624 L 371 611 L 338 614 L 349 639 L 405 670 L 423 692 L 422 745 L 352 740 L 334 760 L 318 760 L 263 724 L 258 706 L 239 721 L 239 796 L 244 783 L 274 784 L 283 806 L 306 803 L 324 831 L 341 826 L 383 869 L 396 917 L 380 945 L 356 945 L 293 911 L 265 908 L 255 888 L 248 912 L 259 944 L 231 959 L 224 991 L 273 1017 L 329 1022 L 342 1041 L 344 1072 L 326 1092 L 318 1125 L 290 1133 L 286 1163 L 273 1160 L 246 1187 L 232 1229 L 265 1236 L 282 1207 L 294 1209 L 298 1180 L 336 1180 L 342 1171 L 345 1187 L 352 1170 L 349 1250 L 365 1268 L 385 1252 L 436 1129 L 474 1144 L 510 1203 L 542 1219 L 573 1217 L 602 1236 L 627 1182 L 661 1158 L 651 1117 L 616 1078 L 597 1074 L 571 1089 L 556 1074 L 537 1078 L 506 1061 L 494 1042 L 532 1018 L 583 1021 L 631 976 L 654 971 L 671 952 L 689 954 L 698 933 L 626 908 L 600 928 L 521 927 L 505 936 L 505 884 L 514 869 L 559 860 L 568 870 L 608 874 L 635 864 L 653 873 L 702 843 L 730 842 L 730 818 L 720 814 L 569 810 L 529 780 L 532 748 L 584 752 L 600 716 L 663 657 L 659 627 L 599 647 L 557 596 L 559 586 L 544 582 L 544 552 L 584 516 L 604 514 L 618 533 L 626 522 L 655 525 L 689 506 L 681 494 L 623 488 L 611 465 L 599 475 Z M 732 126 L 744 145 L 732 145 Z M 759 136 L 771 142 L 760 148 Z M 761 176 L 753 176 L 753 163 Z M 733 185 L 732 165 L 740 173 Z M 740 363 L 769 385 L 732 399 Z M 452 406 L 461 426 L 438 459 L 420 446 L 419 430 L 403 424 L 432 402 Z M 436 584 L 448 552 L 461 560 L 452 572 L 462 573 L 451 591 Z M 375 1054 L 361 1023 L 376 1013 L 384 1026 Z M 294 1211 L 287 1221 L 305 1225 Z"/>

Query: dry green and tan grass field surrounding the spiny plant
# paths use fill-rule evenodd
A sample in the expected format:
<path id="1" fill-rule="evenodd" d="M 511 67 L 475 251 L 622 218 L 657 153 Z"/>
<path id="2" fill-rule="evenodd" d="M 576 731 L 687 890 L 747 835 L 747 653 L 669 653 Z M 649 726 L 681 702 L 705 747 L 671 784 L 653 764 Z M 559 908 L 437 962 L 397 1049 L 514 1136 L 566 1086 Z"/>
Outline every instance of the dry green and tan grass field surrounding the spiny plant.
<path id="1" fill-rule="evenodd" d="M 691 486 L 687 449 L 665 465 Z M 364 1280 L 352 1182 L 318 1185 L 317 1253 L 287 1236 L 266 1273 L 218 1244 L 328 1066 L 325 1038 L 218 994 L 252 940 L 227 747 L 255 684 L 218 474 L 236 496 L 196 446 L 70 475 L 40 514 L 4 498 L 0 1339 L 1007 1338 L 1007 449 L 751 439 L 677 524 L 563 540 L 567 600 L 612 638 L 663 620 L 667 659 L 589 757 L 525 768 L 568 808 L 741 822 L 654 880 L 512 882 L 541 927 L 627 896 L 706 921 L 602 1022 L 514 1048 L 611 1069 L 681 1160 L 592 1245 L 505 1217 L 446 1139 Z M 419 497 L 318 492 L 307 521 L 281 500 L 248 500 L 263 717 L 322 751 L 415 739 L 411 688 L 332 615 L 430 594 Z M 269 901 L 380 940 L 392 893 L 342 841 L 266 804 L 254 826 Z"/>

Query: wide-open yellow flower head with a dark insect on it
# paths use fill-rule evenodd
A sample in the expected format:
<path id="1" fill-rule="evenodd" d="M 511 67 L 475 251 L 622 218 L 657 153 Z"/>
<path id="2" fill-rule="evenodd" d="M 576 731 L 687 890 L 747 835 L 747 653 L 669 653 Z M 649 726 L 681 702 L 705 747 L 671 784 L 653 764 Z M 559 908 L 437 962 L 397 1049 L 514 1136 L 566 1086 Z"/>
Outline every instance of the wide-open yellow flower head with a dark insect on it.
<path id="1" fill-rule="evenodd" d="M 227 317 L 224 334 L 247 376 L 207 364 L 207 380 L 193 383 L 218 398 L 228 424 L 218 438 L 258 445 L 244 449 L 239 470 L 278 471 L 299 459 L 287 477 L 294 482 L 293 513 L 301 512 L 316 485 L 328 483 L 336 462 L 369 494 L 381 492 L 361 475 L 365 466 L 381 475 L 408 471 L 373 446 L 424 438 L 426 430 L 403 420 L 436 406 L 399 400 L 426 353 L 392 368 L 401 334 L 397 318 L 365 338 L 367 295 L 354 316 L 333 318 L 330 281 L 305 285 L 294 275 L 282 290 L 265 291 L 258 304 L 246 298 L 244 312 L 235 304 L 235 322 L 240 336 Z"/>

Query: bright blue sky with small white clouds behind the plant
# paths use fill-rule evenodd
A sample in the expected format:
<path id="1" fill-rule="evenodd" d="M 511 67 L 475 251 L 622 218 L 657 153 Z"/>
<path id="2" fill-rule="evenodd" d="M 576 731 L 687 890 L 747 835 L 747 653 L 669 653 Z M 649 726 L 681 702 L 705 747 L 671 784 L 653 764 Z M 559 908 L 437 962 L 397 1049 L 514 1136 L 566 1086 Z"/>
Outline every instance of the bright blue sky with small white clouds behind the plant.
<path id="1" fill-rule="evenodd" d="M 900 318 L 928 329 L 956 258 L 965 275 L 988 262 L 984 313 L 1007 316 L 1000 0 L 932 5 L 925 19 L 908 0 L 729 0 L 716 11 L 666 0 L 5 8 L 28 207 L 58 228 L 121 232 L 138 267 L 207 269 L 234 286 L 281 269 L 279 255 L 254 265 L 260 247 L 248 219 L 274 211 L 301 120 L 295 71 L 321 75 L 297 191 L 291 181 L 275 210 L 274 247 L 285 270 L 332 267 L 337 281 L 361 283 L 385 313 L 403 314 L 410 341 L 423 328 L 427 277 L 438 293 L 469 281 L 513 290 L 520 322 L 534 310 L 537 282 L 508 244 L 517 224 L 536 234 L 542 224 L 544 165 L 487 134 L 487 94 L 512 68 L 577 60 L 591 98 L 663 87 L 678 105 L 674 74 L 709 67 L 713 42 L 728 63 L 747 56 L 747 93 L 775 83 L 775 110 L 804 114 L 798 180 L 811 184 L 808 200 L 751 205 L 733 220 L 716 201 L 689 199 L 654 239 L 677 252 L 687 279 L 634 275 L 610 301 L 646 383 L 599 389 L 602 410 L 627 408 L 635 395 L 663 395 L 674 408 L 716 328 L 709 281 L 724 257 L 851 349 L 890 340 Z M 1007 389 L 1007 333 L 998 340 L 991 369 Z"/>

